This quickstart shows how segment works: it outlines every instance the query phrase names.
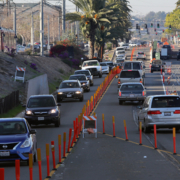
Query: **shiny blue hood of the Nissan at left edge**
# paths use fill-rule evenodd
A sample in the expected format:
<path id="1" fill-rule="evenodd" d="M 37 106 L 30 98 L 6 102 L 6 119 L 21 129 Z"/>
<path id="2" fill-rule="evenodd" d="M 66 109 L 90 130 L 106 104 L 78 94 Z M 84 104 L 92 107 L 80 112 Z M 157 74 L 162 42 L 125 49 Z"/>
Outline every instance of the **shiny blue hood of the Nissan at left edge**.
<path id="1" fill-rule="evenodd" d="M 0 143 L 21 142 L 28 138 L 27 134 L 0 135 Z"/>

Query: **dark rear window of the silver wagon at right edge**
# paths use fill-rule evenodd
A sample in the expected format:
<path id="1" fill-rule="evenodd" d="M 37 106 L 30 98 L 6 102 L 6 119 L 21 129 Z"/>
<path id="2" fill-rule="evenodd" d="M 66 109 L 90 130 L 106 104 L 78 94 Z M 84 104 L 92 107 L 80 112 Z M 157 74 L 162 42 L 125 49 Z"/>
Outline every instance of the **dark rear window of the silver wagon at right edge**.
<path id="1" fill-rule="evenodd" d="M 179 97 L 154 97 L 152 101 L 152 108 L 167 108 L 167 107 L 179 107 Z"/>

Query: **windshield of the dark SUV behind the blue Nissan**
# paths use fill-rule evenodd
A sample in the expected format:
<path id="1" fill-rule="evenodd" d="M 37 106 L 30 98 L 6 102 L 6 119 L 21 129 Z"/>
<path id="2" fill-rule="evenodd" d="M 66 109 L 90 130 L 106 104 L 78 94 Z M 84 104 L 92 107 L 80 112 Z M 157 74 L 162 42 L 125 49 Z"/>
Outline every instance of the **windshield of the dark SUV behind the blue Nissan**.
<path id="1" fill-rule="evenodd" d="M 28 108 L 53 107 L 53 106 L 56 106 L 53 97 L 30 98 L 27 105 Z"/>

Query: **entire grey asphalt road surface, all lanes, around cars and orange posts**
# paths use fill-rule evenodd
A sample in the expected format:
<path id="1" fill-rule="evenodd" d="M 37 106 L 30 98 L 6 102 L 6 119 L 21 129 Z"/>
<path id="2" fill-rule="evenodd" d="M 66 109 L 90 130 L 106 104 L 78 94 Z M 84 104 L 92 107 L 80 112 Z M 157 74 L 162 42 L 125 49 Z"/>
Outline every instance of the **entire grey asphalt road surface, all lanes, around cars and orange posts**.
<path id="1" fill-rule="evenodd" d="M 147 60 L 145 87 L 147 95 L 164 94 L 160 72 L 150 73 L 149 49 L 145 48 Z M 130 53 L 128 52 L 130 57 Z M 137 51 L 135 51 L 136 55 Z M 135 56 L 134 59 L 135 60 Z M 171 60 L 170 60 L 171 61 Z M 173 60 L 174 61 L 174 60 Z M 176 62 L 177 63 L 177 62 Z M 179 66 L 179 63 L 176 64 Z M 62 102 L 61 106 L 61 127 L 53 125 L 34 126 L 37 130 L 38 148 L 42 153 L 42 175 L 46 177 L 46 156 L 45 145 L 55 141 L 56 164 L 58 162 L 58 134 L 68 134 L 69 128 L 73 127 L 73 120 L 81 112 L 85 102 L 94 94 L 97 87 L 104 80 L 95 78 L 91 91 L 85 93 L 84 102 L 70 101 Z M 154 150 L 154 135 L 144 134 L 143 145 L 139 145 L 139 132 L 137 127 L 137 113 L 139 104 L 125 103 L 119 105 L 117 96 L 117 79 L 114 79 L 102 97 L 95 112 L 98 116 L 98 138 L 94 135 L 82 136 L 73 148 L 64 163 L 55 172 L 52 180 L 169 180 L 179 179 L 180 175 L 180 133 L 177 133 L 177 155 L 173 155 L 173 136 L 171 129 L 160 129 L 157 131 L 158 150 Z M 105 116 L 105 132 L 102 134 L 102 114 Z M 112 116 L 115 116 L 116 138 L 112 137 Z M 123 120 L 126 120 L 128 139 L 125 141 Z M 164 151 L 162 151 L 164 150 Z M 52 169 L 52 157 L 50 156 Z M 5 180 L 15 179 L 14 163 L 0 163 L 5 168 Z M 21 163 L 21 178 L 28 179 L 29 169 L 25 163 Z M 33 167 L 34 180 L 39 179 L 38 164 Z"/>

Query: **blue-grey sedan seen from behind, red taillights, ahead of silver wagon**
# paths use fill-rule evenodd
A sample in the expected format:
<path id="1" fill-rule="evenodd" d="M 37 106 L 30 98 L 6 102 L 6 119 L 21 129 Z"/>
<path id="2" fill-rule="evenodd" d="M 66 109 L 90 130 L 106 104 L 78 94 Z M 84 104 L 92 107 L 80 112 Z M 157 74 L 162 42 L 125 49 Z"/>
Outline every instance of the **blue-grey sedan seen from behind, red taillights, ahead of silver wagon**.
<path id="1" fill-rule="evenodd" d="M 118 99 L 120 105 L 125 101 L 139 101 L 143 103 L 145 98 L 146 89 L 142 83 L 122 83 L 119 88 Z"/>

